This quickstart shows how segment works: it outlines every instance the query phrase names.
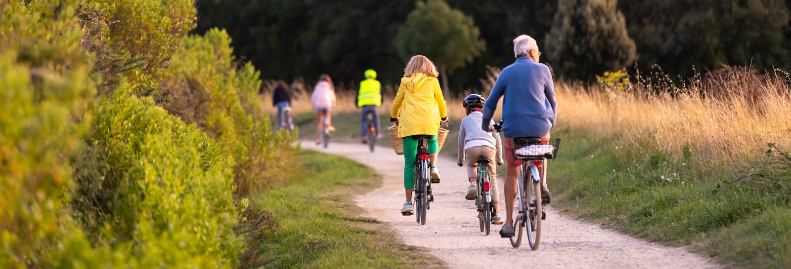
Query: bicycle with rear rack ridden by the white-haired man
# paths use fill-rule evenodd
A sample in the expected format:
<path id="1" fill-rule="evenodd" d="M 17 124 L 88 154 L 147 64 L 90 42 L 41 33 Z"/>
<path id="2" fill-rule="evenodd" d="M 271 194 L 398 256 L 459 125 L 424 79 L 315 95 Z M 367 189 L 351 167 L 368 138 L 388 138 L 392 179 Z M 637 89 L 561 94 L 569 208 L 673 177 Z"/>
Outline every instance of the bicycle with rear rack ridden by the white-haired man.
<path id="1" fill-rule="evenodd" d="M 503 121 L 494 125 L 494 129 L 500 132 Z M 560 138 L 542 139 L 541 137 L 517 137 L 513 139 L 513 144 L 519 147 L 514 154 L 514 159 L 524 162 L 519 167 L 519 177 L 517 180 L 517 217 L 514 219 L 513 227 L 517 234 L 510 237 L 511 246 L 519 248 L 522 242 L 523 230 L 527 230 L 528 244 L 532 250 L 539 248 L 541 239 L 541 221 L 547 218 L 543 205 L 546 201 L 541 198 L 541 186 L 546 179 L 540 176 L 539 167 L 542 169 L 547 159 L 555 159 L 558 155 Z M 537 203 L 537 201 L 541 203 Z M 540 214 L 540 216 L 539 216 Z M 524 229 L 523 229 L 524 228 Z"/>

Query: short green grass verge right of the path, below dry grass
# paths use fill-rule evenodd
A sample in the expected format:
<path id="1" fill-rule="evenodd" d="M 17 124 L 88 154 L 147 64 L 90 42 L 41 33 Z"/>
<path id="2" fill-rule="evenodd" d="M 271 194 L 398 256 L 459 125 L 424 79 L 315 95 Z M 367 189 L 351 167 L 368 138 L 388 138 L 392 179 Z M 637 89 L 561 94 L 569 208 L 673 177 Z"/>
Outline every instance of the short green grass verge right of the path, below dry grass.
<path id="1" fill-rule="evenodd" d="M 689 150 L 672 156 L 570 129 L 553 137 L 562 144 L 547 182 L 562 211 L 651 241 L 692 245 L 734 267 L 791 264 L 789 159 L 725 166 Z"/>

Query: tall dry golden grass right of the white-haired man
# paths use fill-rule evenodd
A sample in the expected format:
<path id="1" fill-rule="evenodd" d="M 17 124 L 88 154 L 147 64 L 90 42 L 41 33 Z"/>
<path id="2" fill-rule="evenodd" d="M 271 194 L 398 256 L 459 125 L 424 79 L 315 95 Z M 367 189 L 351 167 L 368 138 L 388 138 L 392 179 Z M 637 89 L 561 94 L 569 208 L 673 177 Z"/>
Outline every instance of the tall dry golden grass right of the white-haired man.
<path id="1" fill-rule="evenodd" d="M 666 154 L 689 143 L 699 158 L 727 161 L 768 143 L 791 145 L 791 84 L 782 71 L 726 67 L 680 86 L 652 76 L 624 89 L 560 83 L 555 92 L 561 125 Z"/>

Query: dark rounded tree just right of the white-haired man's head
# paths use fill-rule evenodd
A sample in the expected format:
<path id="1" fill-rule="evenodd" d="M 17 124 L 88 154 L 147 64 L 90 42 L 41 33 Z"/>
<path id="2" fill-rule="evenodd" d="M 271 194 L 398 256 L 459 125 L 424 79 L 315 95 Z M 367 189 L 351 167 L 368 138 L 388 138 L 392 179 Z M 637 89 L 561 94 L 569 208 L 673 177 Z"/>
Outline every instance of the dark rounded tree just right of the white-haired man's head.
<path id="1" fill-rule="evenodd" d="M 615 0 L 558 0 L 544 50 L 556 72 L 592 81 L 596 74 L 630 65 L 634 40 Z"/>

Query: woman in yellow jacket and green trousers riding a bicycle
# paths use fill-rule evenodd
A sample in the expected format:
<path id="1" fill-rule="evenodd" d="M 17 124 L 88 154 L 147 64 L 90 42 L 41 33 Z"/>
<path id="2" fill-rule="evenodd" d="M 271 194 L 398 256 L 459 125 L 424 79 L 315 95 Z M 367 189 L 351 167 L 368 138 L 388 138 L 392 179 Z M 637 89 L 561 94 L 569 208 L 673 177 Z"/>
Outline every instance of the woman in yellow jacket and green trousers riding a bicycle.
<path id="1" fill-rule="evenodd" d="M 445 99 L 442 97 L 437 67 L 422 55 L 413 56 L 407 68 L 403 70 L 403 78 L 398 93 L 393 101 L 390 121 L 400 121 L 398 136 L 403 138 L 403 187 L 406 189 L 407 202 L 403 204 L 401 213 L 412 211 L 412 189 L 414 189 L 414 159 L 418 154 L 418 140 L 412 136 L 431 135 L 428 141 L 431 153 L 431 178 L 439 181 L 437 163 L 437 133 L 440 123 L 447 124 L 448 111 L 445 110 Z M 399 118 L 399 112 L 401 118 Z"/>

